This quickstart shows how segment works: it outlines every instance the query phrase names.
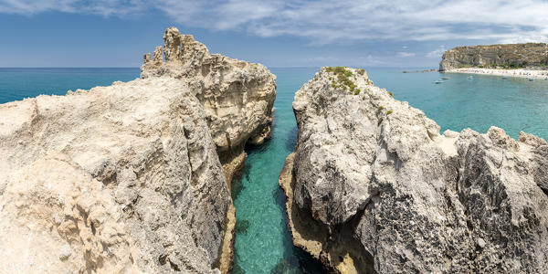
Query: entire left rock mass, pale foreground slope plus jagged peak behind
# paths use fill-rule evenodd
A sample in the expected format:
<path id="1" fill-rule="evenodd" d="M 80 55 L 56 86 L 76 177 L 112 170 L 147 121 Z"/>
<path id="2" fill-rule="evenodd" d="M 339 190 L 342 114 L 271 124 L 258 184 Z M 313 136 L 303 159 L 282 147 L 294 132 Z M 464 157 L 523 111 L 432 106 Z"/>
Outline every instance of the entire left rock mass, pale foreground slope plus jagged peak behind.
<path id="1" fill-rule="evenodd" d="M 168 28 L 141 79 L 0 105 L 0 269 L 228 273 L 275 76 Z"/>

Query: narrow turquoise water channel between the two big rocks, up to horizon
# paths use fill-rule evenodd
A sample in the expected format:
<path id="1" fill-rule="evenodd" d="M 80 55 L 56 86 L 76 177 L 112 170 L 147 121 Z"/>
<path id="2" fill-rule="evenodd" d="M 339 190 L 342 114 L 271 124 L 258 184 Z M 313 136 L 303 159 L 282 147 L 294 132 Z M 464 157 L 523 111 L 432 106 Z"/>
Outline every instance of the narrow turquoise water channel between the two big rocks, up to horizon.
<path id="1" fill-rule="evenodd" d="M 321 273 L 321 266 L 293 247 L 287 227 L 285 195 L 278 175 L 295 148 L 297 122 L 291 103 L 295 91 L 311 79 L 314 68 L 272 68 L 277 76 L 272 138 L 248 148 L 242 178 L 232 184 L 237 236 L 233 274 Z"/>

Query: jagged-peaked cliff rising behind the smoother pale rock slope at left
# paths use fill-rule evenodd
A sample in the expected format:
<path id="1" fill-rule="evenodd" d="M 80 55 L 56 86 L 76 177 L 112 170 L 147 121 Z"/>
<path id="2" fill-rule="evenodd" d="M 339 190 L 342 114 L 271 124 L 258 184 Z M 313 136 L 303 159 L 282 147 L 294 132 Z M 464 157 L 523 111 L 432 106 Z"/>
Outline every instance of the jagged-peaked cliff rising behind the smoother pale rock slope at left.
<path id="1" fill-rule="evenodd" d="M 269 69 L 211 55 L 204 44 L 175 27 L 165 31 L 163 40 L 165 60 L 157 48 L 154 61 L 144 59 L 141 78 L 169 76 L 189 83 L 204 106 L 222 162 L 242 153 L 246 142 L 260 144 L 269 136 L 276 98 L 276 77 Z"/>

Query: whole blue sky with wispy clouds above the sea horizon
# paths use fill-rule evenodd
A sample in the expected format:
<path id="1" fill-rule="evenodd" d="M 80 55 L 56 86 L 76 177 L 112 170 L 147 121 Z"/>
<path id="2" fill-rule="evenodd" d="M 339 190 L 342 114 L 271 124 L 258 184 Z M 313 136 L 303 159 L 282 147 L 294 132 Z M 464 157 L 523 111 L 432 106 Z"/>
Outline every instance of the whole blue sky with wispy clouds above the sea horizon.
<path id="1" fill-rule="evenodd" d="M 444 50 L 548 42 L 548 1 L 0 0 L 0 67 L 139 67 L 177 26 L 268 67 L 432 67 Z"/>

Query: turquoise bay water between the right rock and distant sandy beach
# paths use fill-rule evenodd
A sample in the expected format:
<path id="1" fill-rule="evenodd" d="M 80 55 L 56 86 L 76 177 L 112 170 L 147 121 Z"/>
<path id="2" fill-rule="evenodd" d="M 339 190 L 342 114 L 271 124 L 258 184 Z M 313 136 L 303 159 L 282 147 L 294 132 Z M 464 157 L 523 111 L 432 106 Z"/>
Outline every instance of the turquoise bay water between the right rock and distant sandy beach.
<path id="1" fill-rule="evenodd" d="M 491 125 L 517 139 L 520 131 L 548 139 L 548 80 L 437 72 L 401 73 L 402 69 L 368 69 L 378 87 L 394 92 L 424 111 L 441 127 L 460 132 L 487 132 Z M 433 84 L 440 76 L 450 77 Z"/>

